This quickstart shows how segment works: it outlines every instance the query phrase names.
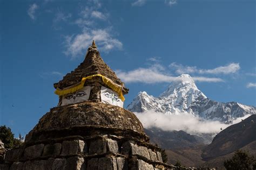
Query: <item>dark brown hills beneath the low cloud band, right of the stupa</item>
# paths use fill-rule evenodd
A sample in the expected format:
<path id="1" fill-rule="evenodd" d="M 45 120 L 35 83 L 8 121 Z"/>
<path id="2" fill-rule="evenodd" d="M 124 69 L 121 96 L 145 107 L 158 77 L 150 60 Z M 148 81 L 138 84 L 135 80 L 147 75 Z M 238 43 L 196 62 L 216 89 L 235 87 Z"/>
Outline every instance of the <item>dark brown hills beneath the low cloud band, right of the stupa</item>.
<path id="1" fill-rule="evenodd" d="M 145 132 L 151 137 L 151 143 L 166 148 L 169 164 L 176 164 L 179 160 L 186 167 L 225 169 L 224 160 L 232 158 L 236 150 L 249 151 L 256 158 L 256 115 L 224 129 L 209 145 L 204 145 L 200 137 L 184 131 L 151 129 Z"/>

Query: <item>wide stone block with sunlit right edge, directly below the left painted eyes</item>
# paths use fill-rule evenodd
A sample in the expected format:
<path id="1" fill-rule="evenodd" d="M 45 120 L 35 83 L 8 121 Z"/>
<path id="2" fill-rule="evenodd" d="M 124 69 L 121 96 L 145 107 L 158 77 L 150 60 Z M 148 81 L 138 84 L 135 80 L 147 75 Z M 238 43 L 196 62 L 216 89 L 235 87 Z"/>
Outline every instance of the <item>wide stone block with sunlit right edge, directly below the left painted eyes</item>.
<path id="1" fill-rule="evenodd" d="M 69 140 L 62 143 L 62 154 L 84 154 L 86 152 L 86 144 L 83 140 Z"/>

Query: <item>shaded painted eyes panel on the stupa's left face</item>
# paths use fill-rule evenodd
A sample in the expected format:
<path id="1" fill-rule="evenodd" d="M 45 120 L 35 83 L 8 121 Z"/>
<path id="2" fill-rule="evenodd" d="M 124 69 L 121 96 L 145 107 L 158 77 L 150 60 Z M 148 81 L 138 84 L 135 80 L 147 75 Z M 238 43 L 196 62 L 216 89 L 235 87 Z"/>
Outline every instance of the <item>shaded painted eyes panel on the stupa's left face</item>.
<path id="1" fill-rule="evenodd" d="M 74 93 L 67 94 L 62 98 L 62 103 L 60 105 L 67 105 L 87 101 L 90 96 L 90 91 L 91 87 L 85 86 Z"/>

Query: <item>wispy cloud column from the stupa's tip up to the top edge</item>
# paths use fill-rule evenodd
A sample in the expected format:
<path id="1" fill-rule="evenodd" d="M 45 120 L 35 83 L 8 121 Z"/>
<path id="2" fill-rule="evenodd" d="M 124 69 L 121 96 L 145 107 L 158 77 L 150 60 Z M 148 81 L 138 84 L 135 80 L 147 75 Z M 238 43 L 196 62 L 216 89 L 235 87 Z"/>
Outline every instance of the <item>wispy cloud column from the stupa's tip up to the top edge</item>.
<path id="1" fill-rule="evenodd" d="M 122 42 L 114 38 L 111 25 L 100 29 L 97 26 L 95 18 L 106 22 L 109 17 L 107 12 L 100 12 L 100 6 L 99 1 L 89 0 L 88 5 L 79 12 L 79 18 L 73 22 L 81 28 L 81 32 L 64 36 L 64 46 L 66 48 L 64 53 L 69 55 L 71 59 L 80 54 L 85 54 L 87 48 L 91 46 L 92 40 L 96 41 L 98 49 L 102 52 L 123 48 Z M 107 24 L 110 24 L 110 22 L 107 22 Z"/>

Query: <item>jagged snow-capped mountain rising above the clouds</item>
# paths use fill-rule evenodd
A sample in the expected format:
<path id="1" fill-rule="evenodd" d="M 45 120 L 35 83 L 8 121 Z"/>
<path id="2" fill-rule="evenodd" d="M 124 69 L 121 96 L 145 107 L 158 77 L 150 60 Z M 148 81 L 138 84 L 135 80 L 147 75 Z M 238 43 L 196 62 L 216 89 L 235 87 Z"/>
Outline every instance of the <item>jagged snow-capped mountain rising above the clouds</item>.
<path id="1" fill-rule="evenodd" d="M 140 92 L 127 107 L 133 112 L 153 110 L 165 114 L 192 114 L 204 119 L 231 123 L 237 117 L 256 114 L 256 108 L 237 102 L 221 103 L 207 98 L 192 77 L 182 74 L 159 97 Z"/>

